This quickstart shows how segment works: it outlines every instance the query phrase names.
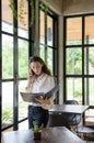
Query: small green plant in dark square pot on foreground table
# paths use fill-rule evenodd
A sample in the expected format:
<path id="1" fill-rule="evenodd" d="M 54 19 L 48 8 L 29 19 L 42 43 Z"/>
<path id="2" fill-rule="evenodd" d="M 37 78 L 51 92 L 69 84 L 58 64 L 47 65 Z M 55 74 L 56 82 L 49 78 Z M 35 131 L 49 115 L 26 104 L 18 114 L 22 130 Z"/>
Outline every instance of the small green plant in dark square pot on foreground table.
<path id="1" fill-rule="evenodd" d="M 34 140 L 40 140 L 42 138 L 42 129 L 44 128 L 44 124 L 42 123 L 40 127 L 38 127 L 35 121 L 33 121 L 34 128 L 33 128 L 33 132 L 34 132 Z"/>

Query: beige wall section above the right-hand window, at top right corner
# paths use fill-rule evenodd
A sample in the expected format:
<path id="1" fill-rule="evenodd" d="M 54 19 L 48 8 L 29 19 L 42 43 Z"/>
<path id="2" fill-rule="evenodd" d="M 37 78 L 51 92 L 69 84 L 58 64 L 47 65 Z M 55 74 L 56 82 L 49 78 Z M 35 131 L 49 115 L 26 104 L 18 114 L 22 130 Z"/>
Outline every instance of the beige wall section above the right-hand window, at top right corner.
<path id="1" fill-rule="evenodd" d="M 94 0 L 62 0 L 62 14 L 82 14 L 94 12 Z"/>

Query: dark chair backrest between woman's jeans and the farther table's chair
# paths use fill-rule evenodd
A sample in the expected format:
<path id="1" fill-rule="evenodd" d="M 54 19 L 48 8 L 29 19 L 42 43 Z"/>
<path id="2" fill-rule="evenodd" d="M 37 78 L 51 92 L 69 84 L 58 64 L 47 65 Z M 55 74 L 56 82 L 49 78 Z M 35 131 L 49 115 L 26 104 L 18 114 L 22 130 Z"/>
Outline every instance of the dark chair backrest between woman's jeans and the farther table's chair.
<path id="1" fill-rule="evenodd" d="M 70 125 L 66 117 L 59 113 L 49 114 L 48 127 L 66 127 L 70 130 Z"/>

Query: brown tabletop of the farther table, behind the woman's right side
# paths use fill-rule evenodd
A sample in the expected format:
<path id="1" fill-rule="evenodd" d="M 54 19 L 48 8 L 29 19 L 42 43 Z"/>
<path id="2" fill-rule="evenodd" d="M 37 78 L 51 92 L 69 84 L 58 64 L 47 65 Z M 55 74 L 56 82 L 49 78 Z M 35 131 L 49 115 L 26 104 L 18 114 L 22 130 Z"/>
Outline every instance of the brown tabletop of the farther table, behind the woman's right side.
<path id="1" fill-rule="evenodd" d="M 82 114 L 89 106 L 80 106 L 80 105 L 54 105 L 49 112 L 60 112 L 60 113 L 80 113 Z"/>

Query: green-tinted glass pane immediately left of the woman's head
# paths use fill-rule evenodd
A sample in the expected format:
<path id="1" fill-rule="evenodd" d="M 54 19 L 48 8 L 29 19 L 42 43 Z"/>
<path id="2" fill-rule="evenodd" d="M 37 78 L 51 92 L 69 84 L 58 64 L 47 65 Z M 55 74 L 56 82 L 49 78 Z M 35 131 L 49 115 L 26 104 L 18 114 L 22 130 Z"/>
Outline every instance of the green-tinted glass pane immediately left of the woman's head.
<path id="1" fill-rule="evenodd" d="M 28 70 L 28 42 L 19 40 L 19 76 L 27 77 Z"/>

